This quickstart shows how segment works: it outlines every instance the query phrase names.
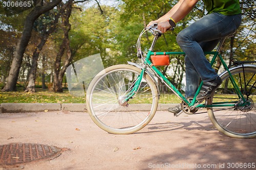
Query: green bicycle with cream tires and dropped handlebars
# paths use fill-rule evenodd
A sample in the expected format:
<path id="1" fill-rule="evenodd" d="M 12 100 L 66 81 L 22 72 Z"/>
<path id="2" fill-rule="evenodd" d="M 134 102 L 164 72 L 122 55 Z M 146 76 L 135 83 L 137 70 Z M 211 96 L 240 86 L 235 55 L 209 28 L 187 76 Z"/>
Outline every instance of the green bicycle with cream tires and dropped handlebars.
<path id="1" fill-rule="evenodd" d="M 154 35 L 154 40 L 147 55 L 143 56 L 140 40 L 146 31 Z M 216 90 L 220 95 L 215 91 L 209 99 L 201 103 L 202 101 L 196 101 L 196 96 L 203 82 L 195 97 L 186 99 L 153 64 L 151 56 L 185 55 L 184 52 L 154 52 L 154 46 L 160 36 L 157 25 L 145 28 L 137 41 L 141 65 L 128 61 L 128 64 L 110 66 L 99 72 L 91 81 L 86 103 L 94 123 L 112 134 L 131 134 L 144 128 L 150 123 L 158 107 L 160 91 L 156 76 L 182 101 L 182 112 L 199 114 L 199 110 L 207 109 L 212 124 L 223 134 L 235 138 L 256 137 L 256 66 L 250 64 L 255 61 L 233 62 L 227 66 L 220 54 L 225 40 L 223 38 L 217 51 L 205 52 L 206 55 L 213 55 L 211 65 L 219 57 L 225 68 L 219 75 L 223 83 Z M 178 115 L 180 114 L 181 112 Z"/>

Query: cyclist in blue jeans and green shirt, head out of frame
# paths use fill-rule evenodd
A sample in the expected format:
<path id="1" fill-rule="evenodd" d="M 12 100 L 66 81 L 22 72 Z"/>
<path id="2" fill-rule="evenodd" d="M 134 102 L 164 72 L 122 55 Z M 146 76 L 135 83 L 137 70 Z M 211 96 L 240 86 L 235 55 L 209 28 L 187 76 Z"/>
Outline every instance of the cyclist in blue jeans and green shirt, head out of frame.
<path id="1" fill-rule="evenodd" d="M 148 26 L 158 23 L 158 30 L 165 33 L 170 27 L 176 27 L 176 23 L 189 13 L 197 2 L 198 0 L 180 0 L 165 15 L 148 23 Z M 242 20 L 239 0 L 203 0 L 203 2 L 207 15 L 182 30 L 176 38 L 186 54 L 185 96 L 186 98 L 195 96 L 201 78 L 203 86 L 196 97 L 199 102 L 209 98 L 222 83 L 221 78 L 204 56 L 204 51 L 213 50 L 221 38 L 236 32 Z M 168 111 L 177 114 L 181 111 L 181 105 L 169 108 Z"/>

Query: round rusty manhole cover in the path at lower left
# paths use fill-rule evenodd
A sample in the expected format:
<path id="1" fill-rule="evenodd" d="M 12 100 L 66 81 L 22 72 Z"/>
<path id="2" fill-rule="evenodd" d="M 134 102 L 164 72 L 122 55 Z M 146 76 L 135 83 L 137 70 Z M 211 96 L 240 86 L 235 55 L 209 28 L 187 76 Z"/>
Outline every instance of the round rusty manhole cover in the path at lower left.
<path id="1" fill-rule="evenodd" d="M 0 167 L 56 158 L 61 149 L 44 144 L 9 143 L 0 145 Z"/>

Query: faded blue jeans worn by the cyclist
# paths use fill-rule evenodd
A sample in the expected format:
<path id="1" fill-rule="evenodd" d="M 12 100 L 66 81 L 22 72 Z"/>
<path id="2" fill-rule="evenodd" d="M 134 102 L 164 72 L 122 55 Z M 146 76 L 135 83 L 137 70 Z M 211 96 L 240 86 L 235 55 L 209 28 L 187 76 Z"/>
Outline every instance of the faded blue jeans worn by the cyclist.
<path id="1" fill-rule="evenodd" d="M 186 97 L 195 95 L 200 78 L 203 82 L 208 82 L 218 77 L 206 59 L 204 51 L 213 50 L 221 38 L 236 32 L 241 20 L 241 14 L 226 16 L 211 13 L 177 35 L 176 40 L 186 54 Z"/>

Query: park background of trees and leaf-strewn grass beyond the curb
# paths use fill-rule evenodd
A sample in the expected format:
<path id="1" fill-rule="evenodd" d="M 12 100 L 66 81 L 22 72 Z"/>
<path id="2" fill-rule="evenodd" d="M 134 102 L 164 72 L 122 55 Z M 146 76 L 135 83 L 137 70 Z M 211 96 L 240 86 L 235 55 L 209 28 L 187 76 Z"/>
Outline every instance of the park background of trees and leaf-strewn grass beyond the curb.
<path id="1" fill-rule="evenodd" d="M 7 2 L 7 1 L 6 1 Z M 11 1 L 9 1 L 11 2 Z M 84 103 L 84 96 L 72 96 L 67 88 L 67 67 L 85 57 L 100 54 L 104 67 L 139 62 L 136 41 L 148 22 L 164 15 L 178 1 L 156 0 L 31 0 L 31 8 L 4 7 L 0 2 L 0 103 Z M 242 25 L 226 39 L 222 55 L 232 60 L 254 61 L 255 1 L 240 1 Z M 182 29 L 206 15 L 202 1 L 173 32 L 158 40 L 155 51 L 181 51 L 176 36 Z M 141 46 L 146 52 L 153 36 L 145 34 Z M 145 53 L 144 53 L 145 54 Z M 210 58 L 211 56 L 207 56 Z M 160 67 L 179 90 L 184 89 L 184 56 L 170 56 L 170 65 Z M 220 61 L 215 63 L 221 72 Z M 160 103 L 179 100 L 159 84 Z"/>

